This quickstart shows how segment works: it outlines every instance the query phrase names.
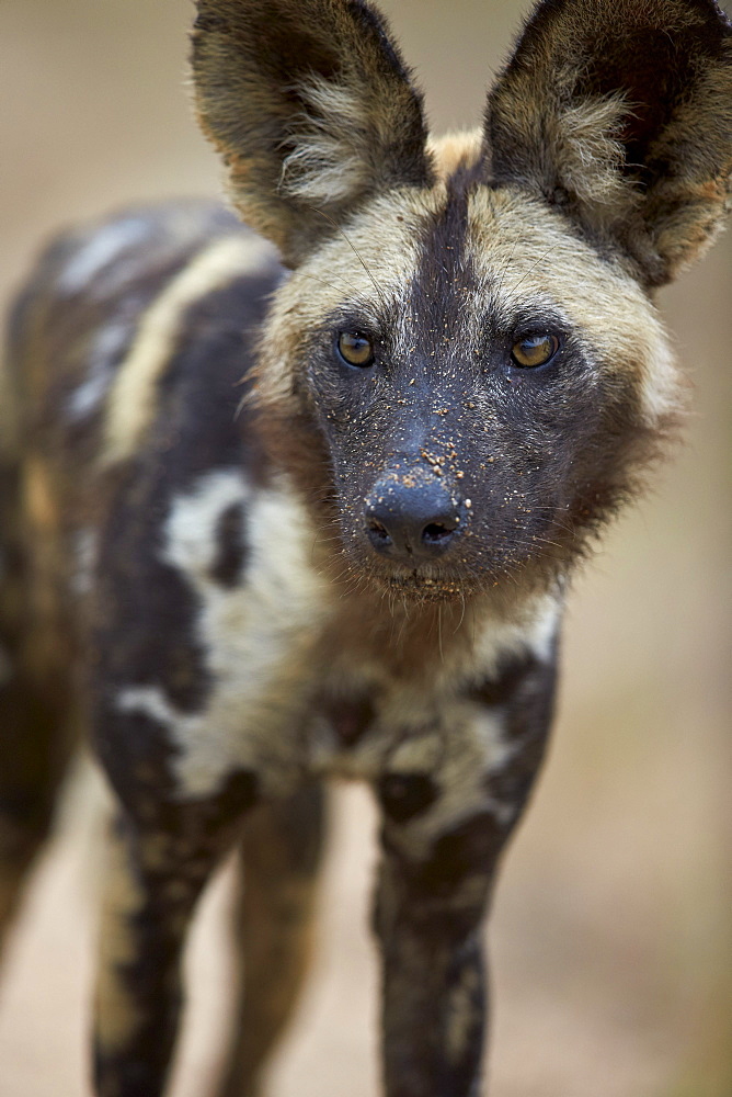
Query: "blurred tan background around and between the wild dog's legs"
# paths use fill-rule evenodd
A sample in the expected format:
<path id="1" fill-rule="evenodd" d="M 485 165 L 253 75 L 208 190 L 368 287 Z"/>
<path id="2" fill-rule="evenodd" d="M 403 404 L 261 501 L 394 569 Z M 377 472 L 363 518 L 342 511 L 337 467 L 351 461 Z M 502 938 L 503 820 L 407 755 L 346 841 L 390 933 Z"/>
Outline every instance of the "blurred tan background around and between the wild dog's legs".
<path id="1" fill-rule="evenodd" d="M 525 3 L 385 0 L 435 128 L 477 123 Z M 0 297 L 58 225 L 215 193 L 191 118 L 186 0 L 0 4 Z M 492 1097 L 730 1097 L 732 238 L 661 305 L 695 388 L 683 449 L 577 583 L 553 748 L 490 929 Z M 0 765 L 2 760 L 0 759 Z M 0 1097 L 88 1097 L 99 794 L 76 783 L 10 942 Z M 317 969 L 274 1097 L 377 1093 L 373 815 L 336 798 Z M 226 1008 L 217 930 L 192 958 L 175 1097 L 204 1097 Z"/>

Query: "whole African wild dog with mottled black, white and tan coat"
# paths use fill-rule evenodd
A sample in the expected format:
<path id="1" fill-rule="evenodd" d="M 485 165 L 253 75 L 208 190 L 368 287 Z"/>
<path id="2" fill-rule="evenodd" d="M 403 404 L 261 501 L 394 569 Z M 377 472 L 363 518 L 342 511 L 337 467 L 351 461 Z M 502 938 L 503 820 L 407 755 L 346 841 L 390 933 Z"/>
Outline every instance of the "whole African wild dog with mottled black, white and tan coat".
<path id="1" fill-rule="evenodd" d="M 199 0 L 193 70 L 270 242 L 135 211 L 56 242 L 12 317 L 0 905 L 87 720 L 118 804 L 98 1093 L 161 1094 L 186 926 L 235 844 L 220 1093 L 259 1093 L 321 780 L 365 780 L 386 1092 L 476 1095 L 480 928 L 568 577 L 678 406 L 652 293 L 724 210 L 730 25 L 713 0 L 541 0 L 483 132 L 443 140 L 363 0 Z"/>

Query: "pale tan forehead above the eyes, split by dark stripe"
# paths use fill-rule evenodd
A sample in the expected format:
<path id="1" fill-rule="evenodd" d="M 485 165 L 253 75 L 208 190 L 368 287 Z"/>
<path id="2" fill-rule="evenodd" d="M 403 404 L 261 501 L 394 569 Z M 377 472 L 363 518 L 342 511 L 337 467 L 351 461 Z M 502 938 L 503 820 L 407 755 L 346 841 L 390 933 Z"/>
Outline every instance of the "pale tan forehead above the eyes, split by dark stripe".
<path id="1" fill-rule="evenodd" d="M 560 213 L 476 180 L 465 166 L 431 188 L 368 203 L 295 273 L 294 289 L 313 323 L 353 305 L 378 327 L 403 321 L 405 312 L 437 323 L 441 309 L 450 325 L 488 315 L 511 327 L 535 309 L 591 338 L 622 341 L 651 312 L 619 262 Z"/>

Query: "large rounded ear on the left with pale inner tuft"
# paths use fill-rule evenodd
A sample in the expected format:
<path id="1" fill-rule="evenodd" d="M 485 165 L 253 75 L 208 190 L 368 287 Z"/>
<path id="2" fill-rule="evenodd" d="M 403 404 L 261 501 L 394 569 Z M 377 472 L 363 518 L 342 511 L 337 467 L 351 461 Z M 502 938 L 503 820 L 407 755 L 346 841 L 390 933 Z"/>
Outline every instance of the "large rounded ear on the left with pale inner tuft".
<path id="1" fill-rule="evenodd" d="M 198 0 L 193 77 L 235 205 L 296 264 L 364 200 L 431 180 L 422 98 L 363 0 Z"/>

